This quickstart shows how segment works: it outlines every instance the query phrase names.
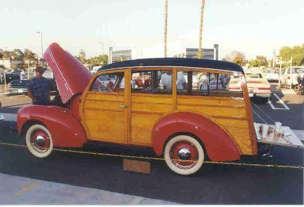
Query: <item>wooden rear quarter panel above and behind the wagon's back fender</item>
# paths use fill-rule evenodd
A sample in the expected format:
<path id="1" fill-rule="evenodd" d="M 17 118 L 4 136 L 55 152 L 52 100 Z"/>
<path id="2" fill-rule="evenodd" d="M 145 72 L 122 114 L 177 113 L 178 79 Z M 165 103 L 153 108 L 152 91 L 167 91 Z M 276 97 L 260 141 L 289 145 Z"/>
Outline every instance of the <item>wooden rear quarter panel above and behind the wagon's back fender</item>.
<path id="1" fill-rule="evenodd" d="M 241 154 L 252 155 L 252 146 L 249 137 L 247 112 L 244 100 L 241 98 L 219 98 L 199 96 L 177 96 L 177 109 L 203 112 L 208 117 L 221 124 L 238 144 Z"/>

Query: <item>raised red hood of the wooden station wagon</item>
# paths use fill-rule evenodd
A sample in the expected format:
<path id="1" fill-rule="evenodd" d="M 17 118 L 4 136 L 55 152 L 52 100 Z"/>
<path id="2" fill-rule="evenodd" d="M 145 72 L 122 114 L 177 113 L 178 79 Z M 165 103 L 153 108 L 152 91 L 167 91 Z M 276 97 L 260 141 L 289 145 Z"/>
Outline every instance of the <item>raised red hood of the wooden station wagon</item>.
<path id="1" fill-rule="evenodd" d="M 92 73 L 59 44 L 52 43 L 43 57 L 54 73 L 63 103 L 68 102 L 77 93 L 83 92 L 88 86 Z"/>

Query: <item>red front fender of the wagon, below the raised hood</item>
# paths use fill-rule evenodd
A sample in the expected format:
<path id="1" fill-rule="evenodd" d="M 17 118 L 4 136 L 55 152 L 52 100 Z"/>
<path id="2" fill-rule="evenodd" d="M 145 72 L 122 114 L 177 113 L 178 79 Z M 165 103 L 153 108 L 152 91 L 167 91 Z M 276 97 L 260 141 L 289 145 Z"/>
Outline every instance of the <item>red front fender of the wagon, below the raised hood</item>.
<path id="1" fill-rule="evenodd" d="M 72 112 L 59 106 L 25 106 L 17 114 L 19 136 L 26 126 L 41 122 L 52 135 L 54 146 L 82 147 L 88 139 L 79 120 Z"/>

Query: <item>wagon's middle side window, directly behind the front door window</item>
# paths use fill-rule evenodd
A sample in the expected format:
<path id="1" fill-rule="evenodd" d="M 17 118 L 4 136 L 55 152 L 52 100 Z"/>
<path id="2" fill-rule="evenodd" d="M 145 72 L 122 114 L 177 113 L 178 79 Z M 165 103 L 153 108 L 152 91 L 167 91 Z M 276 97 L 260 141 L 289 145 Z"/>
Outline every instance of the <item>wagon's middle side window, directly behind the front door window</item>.
<path id="1" fill-rule="evenodd" d="M 133 93 L 172 94 L 172 71 L 132 71 Z"/>

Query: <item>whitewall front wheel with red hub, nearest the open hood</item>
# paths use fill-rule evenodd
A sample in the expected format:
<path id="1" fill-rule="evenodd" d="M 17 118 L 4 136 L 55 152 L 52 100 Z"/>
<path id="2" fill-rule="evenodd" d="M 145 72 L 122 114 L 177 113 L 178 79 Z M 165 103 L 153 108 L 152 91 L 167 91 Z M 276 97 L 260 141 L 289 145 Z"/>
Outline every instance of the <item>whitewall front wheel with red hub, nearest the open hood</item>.
<path id="1" fill-rule="evenodd" d="M 50 131 L 41 124 L 34 124 L 26 132 L 26 146 L 35 157 L 48 157 L 53 149 Z"/>

